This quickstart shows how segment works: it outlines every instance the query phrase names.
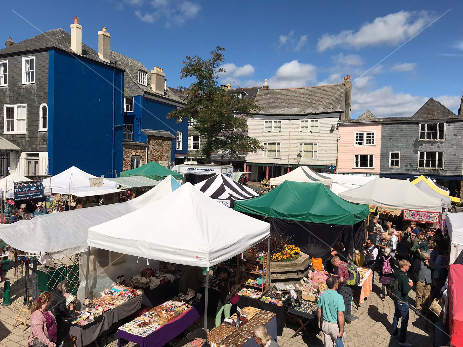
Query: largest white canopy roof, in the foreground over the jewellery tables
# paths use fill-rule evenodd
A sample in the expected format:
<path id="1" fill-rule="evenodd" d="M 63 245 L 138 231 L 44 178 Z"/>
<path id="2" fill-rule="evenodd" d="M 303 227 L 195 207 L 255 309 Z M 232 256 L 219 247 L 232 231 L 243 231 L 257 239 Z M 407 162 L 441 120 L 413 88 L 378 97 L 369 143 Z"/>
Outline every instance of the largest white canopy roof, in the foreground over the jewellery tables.
<path id="1" fill-rule="evenodd" d="M 186 183 L 154 204 L 91 227 L 88 245 L 148 259 L 210 267 L 269 235 L 269 223 L 217 204 Z"/>

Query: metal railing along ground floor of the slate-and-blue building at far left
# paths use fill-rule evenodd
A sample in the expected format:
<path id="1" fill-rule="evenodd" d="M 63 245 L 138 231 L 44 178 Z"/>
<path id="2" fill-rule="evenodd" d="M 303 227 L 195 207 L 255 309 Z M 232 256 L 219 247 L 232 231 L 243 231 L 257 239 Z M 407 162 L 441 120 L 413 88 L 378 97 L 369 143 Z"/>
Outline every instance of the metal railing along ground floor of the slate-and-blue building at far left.
<path id="1" fill-rule="evenodd" d="M 0 155 L 0 176 L 5 177 L 13 173 L 23 176 L 48 176 L 49 159 L 35 156 L 10 158 Z"/>

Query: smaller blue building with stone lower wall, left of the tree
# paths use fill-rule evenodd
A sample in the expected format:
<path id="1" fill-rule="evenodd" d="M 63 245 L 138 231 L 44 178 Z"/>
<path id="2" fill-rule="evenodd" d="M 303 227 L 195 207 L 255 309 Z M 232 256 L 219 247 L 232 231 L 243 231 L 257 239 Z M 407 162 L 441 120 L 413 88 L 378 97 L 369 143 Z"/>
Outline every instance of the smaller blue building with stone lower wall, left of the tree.
<path id="1" fill-rule="evenodd" d="M 111 51 L 111 60 L 125 70 L 123 169 L 185 158 L 188 120 L 168 119 L 167 115 L 186 103 L 166 87 L 163 69 L 149 70 L 115 51 Z"/>

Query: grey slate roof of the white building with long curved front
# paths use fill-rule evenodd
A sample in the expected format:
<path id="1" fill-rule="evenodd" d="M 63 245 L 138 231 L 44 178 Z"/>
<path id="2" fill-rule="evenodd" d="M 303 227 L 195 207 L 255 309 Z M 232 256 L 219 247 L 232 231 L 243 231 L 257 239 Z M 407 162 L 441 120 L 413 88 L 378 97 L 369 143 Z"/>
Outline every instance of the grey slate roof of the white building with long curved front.
<path id="1" fill-rule="evenodd" d="M 254 99 L 259 114 L 301 115 L 344 112 L 344 83 L 329 86 L 259 89 Z"/>

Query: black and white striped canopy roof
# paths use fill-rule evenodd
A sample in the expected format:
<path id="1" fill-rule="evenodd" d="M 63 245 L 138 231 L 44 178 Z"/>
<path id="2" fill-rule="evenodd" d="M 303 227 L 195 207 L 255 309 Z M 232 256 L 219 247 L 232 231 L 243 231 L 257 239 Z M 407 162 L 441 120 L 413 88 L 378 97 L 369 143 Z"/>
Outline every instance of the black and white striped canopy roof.
<path id="1" fill-rule="evenodd" d="M 243 200 L 260 195 L 258 192 L 235 182 L 224 174 L 215 175 L 210 179 L 195 184 L 194 187 L 209 197 L 219 200 Z"/>

